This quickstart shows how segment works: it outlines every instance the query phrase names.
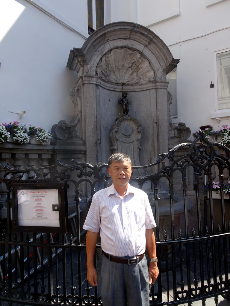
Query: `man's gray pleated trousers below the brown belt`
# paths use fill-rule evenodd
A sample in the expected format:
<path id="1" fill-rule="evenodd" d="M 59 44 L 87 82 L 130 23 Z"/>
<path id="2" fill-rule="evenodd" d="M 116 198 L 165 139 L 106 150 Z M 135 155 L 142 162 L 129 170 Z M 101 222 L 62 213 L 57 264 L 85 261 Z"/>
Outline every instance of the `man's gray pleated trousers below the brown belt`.
<path id="1" fill-rule="evenodd" d="M 149 306 L 148 265 L 115 263 L 102 255 L 101 295 L 103 306 Z"/>

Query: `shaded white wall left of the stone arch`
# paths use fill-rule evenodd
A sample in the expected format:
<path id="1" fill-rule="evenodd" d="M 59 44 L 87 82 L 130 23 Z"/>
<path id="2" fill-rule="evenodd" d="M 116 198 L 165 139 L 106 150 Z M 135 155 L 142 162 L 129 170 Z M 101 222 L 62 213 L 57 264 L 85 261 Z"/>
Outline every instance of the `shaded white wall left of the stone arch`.
<path id="1" fill-rule="evenodd" d="M 65 2 L 58 2 L 55 9 L 67 17 Z M 87 2 L 78 2 L 78 9 L 86 12 L 87 29 Z M 0 12 L 0 122 L 18 120 L 8 110 L 25 110 L 22 124 L 48 130 L 59 120 L 69 122 L 77 74 L 66 64 L 70 50 L 82 47 L 84 31 L 78 35 L 26 0 L 1 0 Z"/>

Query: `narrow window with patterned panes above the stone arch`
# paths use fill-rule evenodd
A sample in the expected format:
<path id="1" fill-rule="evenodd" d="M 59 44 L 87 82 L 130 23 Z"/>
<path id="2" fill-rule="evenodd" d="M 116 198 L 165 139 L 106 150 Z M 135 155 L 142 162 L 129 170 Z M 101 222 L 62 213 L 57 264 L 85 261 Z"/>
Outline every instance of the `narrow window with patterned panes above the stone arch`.
<path id="1" fill-rule="evenodd" d="M 104 0 L 88 0 L 88 34 L 104 25 Z"/>

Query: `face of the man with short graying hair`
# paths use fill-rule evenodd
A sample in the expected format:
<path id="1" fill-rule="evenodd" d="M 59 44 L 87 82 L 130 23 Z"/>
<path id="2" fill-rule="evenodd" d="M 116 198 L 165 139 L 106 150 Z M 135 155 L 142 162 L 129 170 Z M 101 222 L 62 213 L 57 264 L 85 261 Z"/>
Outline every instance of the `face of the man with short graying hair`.
<path id="1" fill-rule="evenodd" d="M 108 172 L 115 188 L 116 186 L 127 186 L 132 174 L 132 166 L 130 166 L 130 162 L 128 161 L 112 162 L 110 168 L 108 168 Z"/>

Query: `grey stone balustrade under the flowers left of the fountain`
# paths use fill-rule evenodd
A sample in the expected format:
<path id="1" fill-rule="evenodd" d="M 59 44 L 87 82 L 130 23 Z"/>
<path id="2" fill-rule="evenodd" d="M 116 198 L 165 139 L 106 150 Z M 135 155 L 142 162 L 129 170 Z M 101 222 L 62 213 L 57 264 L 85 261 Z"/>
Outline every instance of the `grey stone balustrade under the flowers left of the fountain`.
<path id="1" fill-rule="evenodd" d="M 11 142 L 0 143 L 0 163 L 14 169 L 26 169 L 34 167 L 36 170 L 43 168 L 42 172 L 49 172 L 49 169 L 44 167 L 57 164 L 57 160 L 71 164 L 71 160 L 84 162 L 86 160 L 86 148 L 84 141 L 79 139 L 68 140 L 53 140 L 51 144 L 19 144 Z M 13 174 L 17 177 L 17 174 Z M 8 174 L 6 178 L 10 178 L 12 174 Z M 33 178 L 34 172 L 23 175 L 23 179 Z M 0 177 L 3 177 L 3 172 L 0 171 Z M 47 174 L 49 177 L 49 174 Z M 71 193 L 72 192 L 72 193 Z M 71 186 L 72 198 L 75 198 L 75 188 Z M 7 190 L 5 184 L 0 184 L 0 209 L 6 207 Z M 69 199 L 69 203 L 71 200 Z"/>

